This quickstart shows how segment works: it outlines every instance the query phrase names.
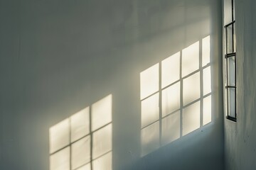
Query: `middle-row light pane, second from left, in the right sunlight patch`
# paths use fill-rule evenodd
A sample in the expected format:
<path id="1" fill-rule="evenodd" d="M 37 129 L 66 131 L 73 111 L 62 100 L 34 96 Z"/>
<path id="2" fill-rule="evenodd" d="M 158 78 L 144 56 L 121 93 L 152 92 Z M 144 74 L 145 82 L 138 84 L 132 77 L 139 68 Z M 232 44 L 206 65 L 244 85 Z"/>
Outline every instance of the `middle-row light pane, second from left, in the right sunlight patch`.
<path id="1" fill-rule="evenodd" d="M 180 83 L 176 83 L 162 91 L 162 117 L 180 108 Z"/>

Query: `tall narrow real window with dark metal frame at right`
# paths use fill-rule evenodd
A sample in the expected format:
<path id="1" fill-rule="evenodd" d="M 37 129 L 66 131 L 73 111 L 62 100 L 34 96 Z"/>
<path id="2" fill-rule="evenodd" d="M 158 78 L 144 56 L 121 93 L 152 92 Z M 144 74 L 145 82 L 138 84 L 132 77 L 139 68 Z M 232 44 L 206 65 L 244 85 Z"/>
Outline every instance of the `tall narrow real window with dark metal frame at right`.
<path id="1" fill-rule="evenodd" d="M 225 113 L 229 120 L 236 121 L 236 40 L 235 1 L 224 1 L 224 60 L 225 60 Z"/>

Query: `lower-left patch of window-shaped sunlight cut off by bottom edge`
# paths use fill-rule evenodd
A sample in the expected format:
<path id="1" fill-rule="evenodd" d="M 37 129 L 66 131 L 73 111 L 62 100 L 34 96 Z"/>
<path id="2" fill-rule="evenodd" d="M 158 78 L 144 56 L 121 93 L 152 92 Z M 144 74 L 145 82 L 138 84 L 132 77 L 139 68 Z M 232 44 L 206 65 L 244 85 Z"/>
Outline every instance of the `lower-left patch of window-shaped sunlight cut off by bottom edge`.
<path id="1" fill-rule="evenodd" d="M 50 170 L 112 170 L 112 94 L 49 129 Z"/>

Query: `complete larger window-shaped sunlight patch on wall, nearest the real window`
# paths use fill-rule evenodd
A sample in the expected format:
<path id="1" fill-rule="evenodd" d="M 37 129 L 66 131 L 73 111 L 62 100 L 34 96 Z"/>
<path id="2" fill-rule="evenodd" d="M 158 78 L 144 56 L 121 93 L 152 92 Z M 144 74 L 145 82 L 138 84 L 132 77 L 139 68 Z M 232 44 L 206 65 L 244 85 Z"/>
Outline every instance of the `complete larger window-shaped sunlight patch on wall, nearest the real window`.
<path id="1" fill-rule="evenodd" d="M 140 73 L 142 157 L 211 123 L 210 35 Z"/>

